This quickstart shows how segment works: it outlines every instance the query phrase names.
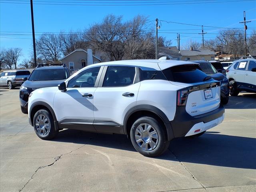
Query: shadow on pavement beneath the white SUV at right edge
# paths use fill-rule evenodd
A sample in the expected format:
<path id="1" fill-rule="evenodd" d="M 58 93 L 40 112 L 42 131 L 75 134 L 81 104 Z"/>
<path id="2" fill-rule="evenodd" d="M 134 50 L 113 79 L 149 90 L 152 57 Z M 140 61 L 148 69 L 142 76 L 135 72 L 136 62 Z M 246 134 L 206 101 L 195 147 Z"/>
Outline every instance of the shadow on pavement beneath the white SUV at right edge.
<path id="1" fill-rule="evenodd" d="M 225 109 L 256 109 L 256 94 L 246 93 L 238 96 L 229 96 Z"/>

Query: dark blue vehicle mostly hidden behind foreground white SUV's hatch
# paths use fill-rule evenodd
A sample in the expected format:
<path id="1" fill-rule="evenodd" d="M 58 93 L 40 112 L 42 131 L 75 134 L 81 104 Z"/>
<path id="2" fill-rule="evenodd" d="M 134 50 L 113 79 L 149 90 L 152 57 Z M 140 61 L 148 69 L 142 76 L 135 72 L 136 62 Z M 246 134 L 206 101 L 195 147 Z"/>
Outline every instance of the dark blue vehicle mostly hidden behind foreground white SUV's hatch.
<path id="1" fill-rule="evenodd" d="M 218 73 L 217 70 L 208 61 L 193 61 L 199 64 L 200 69 L 212 77 L 213 79 L 220 81 L 220 101 L 222 104 L 227 104 L 229 99 L 229 82 L 226 76 L 222 73 Z"/>

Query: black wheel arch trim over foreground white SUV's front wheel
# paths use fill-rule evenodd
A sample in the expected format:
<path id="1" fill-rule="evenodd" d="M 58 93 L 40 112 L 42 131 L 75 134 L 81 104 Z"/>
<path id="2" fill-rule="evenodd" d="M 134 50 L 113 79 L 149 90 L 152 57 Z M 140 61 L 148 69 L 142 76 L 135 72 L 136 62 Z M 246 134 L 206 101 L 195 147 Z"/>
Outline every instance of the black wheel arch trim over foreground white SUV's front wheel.
<path id="1" fill-rule="evenodd" d="M 30 106 L 29 115 L 30 115 L 32 126 L 34 126 L 33 125 L 34 115 L 40 109 L 46 109 L 50 112 L 50 114 L 52 114 L 55 130 L 58 130 L 58 122 L 57 122 L 57 118 L 54 113 L 54 110 L 52 109 L 52 107 L 49 104 L 47 104 L 46 102 L 42 102 L 42 101 L 35 102 Z"/>

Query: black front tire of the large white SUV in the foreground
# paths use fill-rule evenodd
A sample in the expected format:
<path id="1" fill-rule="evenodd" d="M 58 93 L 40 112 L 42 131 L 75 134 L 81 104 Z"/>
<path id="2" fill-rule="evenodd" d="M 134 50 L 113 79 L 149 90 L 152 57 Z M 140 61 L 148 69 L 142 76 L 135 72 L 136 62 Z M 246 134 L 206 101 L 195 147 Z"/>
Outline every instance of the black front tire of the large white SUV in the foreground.
<path id="1" fill-rule="evenodd" d="M 44 134 L 44 131 L 42 128 L 40 128 L 38 125 L 36 125 L 36 124 L 38 124 L 36 122 L 37 118 L 41 118 L 42 116 L 47 118 L 46 124 L 48 123 L 48 125 L 49 125 L 48 129 L 46 129 L 47 130 L 46 134 Z M 58 130 L 57 131 L 55 130 L 52 114 L 50 114 L 50 112 L 48 112 L 47 110 L 41 109 L 36 112 L 36 114 L 34 115 L 34 118 L 33 118 L 33 125 L 34 125 L 34 130 L 35 130 L 37 136 L 43 140 L 53 139 L 58 134 Z"/>

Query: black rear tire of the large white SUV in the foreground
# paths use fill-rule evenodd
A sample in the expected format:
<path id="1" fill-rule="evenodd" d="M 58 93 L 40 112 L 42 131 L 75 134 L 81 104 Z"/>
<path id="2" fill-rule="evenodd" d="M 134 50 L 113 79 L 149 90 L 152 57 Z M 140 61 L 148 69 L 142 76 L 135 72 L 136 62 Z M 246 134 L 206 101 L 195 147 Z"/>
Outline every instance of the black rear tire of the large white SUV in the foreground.
<path id="1" fill-rule="evenodd" d="M 154 139 L 154 142 L 156 142 L 156 146 L 151 149 L 151 150 L 144 150 L 143 148 L 141 148 L 139 146 L 139 144 L 136 142 L 136 138 L 135 138 L 135 134 L 136 134 L 136 129 L 138 128 L 139 125 L 141 124 L 149 124 L 153 127 L 153 129 L 156 131 L 157 136 L 158 136 L 158 140 L 155 140 L 154 138 L 150 138 L 150 136 L 148 137 L 148 139 L 151 141 Z M 152 129 L 152 130 L 153 130 Z M 132 141 L 132 145 L 134 146 L 134 148 L 142 155 L 146 156 L 146 157 L 156 157 L 156 156 L 160 156 L 161 154 L 163 154 L 170 142 L 167 139 L 167 134 L 164 131 L 164 127 L 161 126 L 160 122 L 158 122 L 155 118 L 152 117 L 141 117 L 138 118 L 134 124 L 132 125 L 132 128 L 130 130 L 130 138 Z M 149 130 L 150 131 L 150 130 Z M 138 137 L 138 135 L 137 135 Z M 141 141 L 142 143 L 144 143 L 144 141 Z M 149 144 L 146 144 L 148 146 L 150 146 Z"/>

